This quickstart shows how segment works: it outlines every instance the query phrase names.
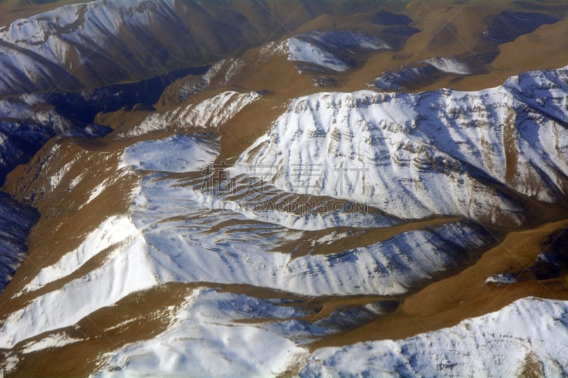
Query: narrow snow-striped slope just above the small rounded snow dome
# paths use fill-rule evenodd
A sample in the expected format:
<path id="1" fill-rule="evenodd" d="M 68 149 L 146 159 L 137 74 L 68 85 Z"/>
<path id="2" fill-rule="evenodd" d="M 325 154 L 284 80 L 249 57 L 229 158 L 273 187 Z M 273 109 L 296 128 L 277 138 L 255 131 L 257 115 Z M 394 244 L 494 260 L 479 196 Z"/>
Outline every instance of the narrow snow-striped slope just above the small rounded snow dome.
<path id="1" fill-rule="evenodd" d="M 224 91 L 197 104 L 190 104 L 163 114 L 153 113 L 121 137 L 143 135 L 156 130 L 185 128 L 219 128 L 245 106 L 261 98 L 256 92 Z"/>

